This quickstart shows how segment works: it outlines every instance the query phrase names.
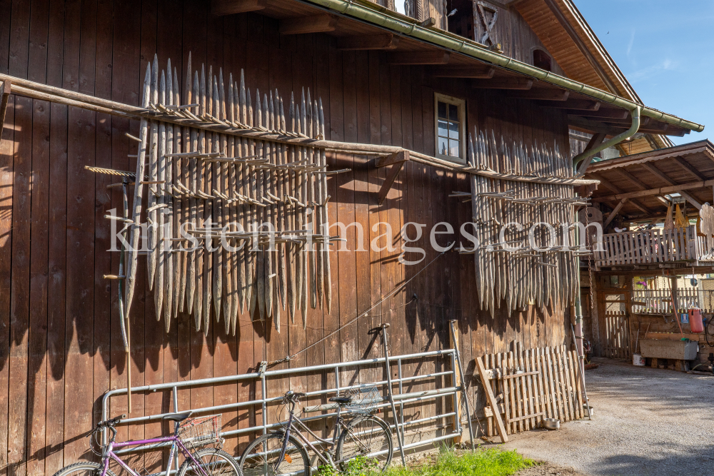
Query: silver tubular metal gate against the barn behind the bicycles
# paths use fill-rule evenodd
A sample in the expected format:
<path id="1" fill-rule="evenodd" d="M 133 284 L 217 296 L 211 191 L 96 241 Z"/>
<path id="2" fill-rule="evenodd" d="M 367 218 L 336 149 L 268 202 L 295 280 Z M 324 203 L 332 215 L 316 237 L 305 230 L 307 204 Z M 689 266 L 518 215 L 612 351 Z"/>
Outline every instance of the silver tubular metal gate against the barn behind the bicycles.
<path id="1" fill-rule="evenodd" d="M 433 369 L 435 371 L 428 373 L 413 373 L 413 375 L 405 376 L 405 367 L 416 365 L 417 370 L 421 369 L 423 368 L 423 365 L 418 365 L 418 361 L 426 359 L 433 359 L 435 361 L 433 363 Z M 414 437 L 418 437 L 418 435 L 423 434 L 425 430 L 435 430 L 434 434 L 429 435 L 426 439 L 417 439 L 416 441 L 408 442 L 404 444 L 403 447 L 395 444 L 395 453 L 401 450 L 408 450 L 412 447 L 426 445 L 428 443 L 448 440 L 461 435 L 462 427 L 458 403 L 459 399 L 457 397 L 457 393 L 461 392 L 461 386 L 454 385 L 454 383 L 460 382 L 460 380 L 456 378 L 458 368 L 456 365 L 456 352 L 453 349 L 406 355 L 390 355 L 387 360 L 385 358 L 373 358 L 343 363 L 311 365 L 308 367 L 266 370 L 263 372 L 229 375 L 226 377 L 145 385 L 143 387 L 132 388 L 132 393 L 144 393 L 145 395 L 159 391 L 169 393 L 172 406 L 171 411 L 156 413 L 153 415 L 144 415 L 142 417 L 126 418 L 125 420 L 122 420 L 121 425 L 161 422 L 164 415 L 174 412 L 185 412 L 188 410 L 191 410 L 193 415 L 203 415 L 236 412 L 238 409 L 248 408 L 253 410 L 253 415 L 256 417 L 256 424 L 248 427 L 238 427 L 223 431 L 221 435 L 223 437 L 230 437 L 231 435 L 241 435 L 246 433 L 266 433 L 269 430 L 283 424 L 283 422 L 278 420 L 278 418 L 271 418 L 274 412 L 268 410 L 271 409 L 271 406 L 278 405 L 282 401 L 282 392 L 288 390 L 288 388 L 294 388 L 292 379 L 296 379 L 298 377 L 309 377 L 311 375 L 321 375 L 323 377 L 323 388 L 319 390 L 304 390 L 307 390 L 305 393 L 307 394 L 308 399 L 310 397 L 313 397 L 313 399 L 320 397 L 321 400 L 326 400 L 325 396 L 328 394 L 341 395 L 341 393 L 344 393 L 352 388 L 358 388 L 359 385 L 363 385 L 364 383 L 373 383 L 378 385 L 378 387 L 381 387 L 383 392 L 388 391 L 388 380 L 386 378 L 384 380 L 377 381 L 373 381 L 376 379 L 362 380 L 362 377 L 368 379 L 370 376 L 374 377 L 380 372 L 384 375 L 383 372 L 385 372 L 387 368 L 391 372 L 391 375 L 397 375 L 397 378 L 391 378 L 392 396 L 398 408 L 398 417 L 396 420 L 398 422 L 398 430 L 402 436 L 397 440 L 405 441 L 405 437 L 412 437 L 411 440 L 414 440 Z M 332 375 L 331 378 L 329 378 L 332 381 L 331 384 L 328 384 L 326 379 L 329 375 Z M 288 378 L 287 382 L 285 380 L 286 376 Z M 278 379 L 280 379 L 279 386 L 283 388 L 276 388 L 271 392 L 271 386 L 277 383 Z M 231 383 L 253 383 L 256 388 L 256 397 L 253 400 L 239 402 L 236 394 L 236 398 L 231 402 L 208 407 L 192 406 L 190 408 L 182 408 L 178 404 L 178 394 L 182 390 L 216 387 L 218 385 Z M 286 383 L 288 384 L 288 388 L 285 388 Z M 420 389 L 418 391 L 404 393 L 405 387 L 408 387 L 409 385 L 417 385 Z M 116 404 L 121 407 L 125 407 L 124 402 L 126 401 L 126 391 L 126 388 L 121 388 L 110 390 L 104 394 L 104 397 L 102 398 L 101 410 L 102 420 L 106 420 L 111 414 L 113 414 L 111 411 L 112 402 L 116 401 L 118 397 L 121 398 L 121 400 L 117 401 Z M 260 394 L 259 398 L 258 393 Z M 278 393 L 279 395 L 276 395 Z M 411 420 L 407 420 L 405 418 L 406 407 L 409 405 L 428 402 L 429 400 L 434 401 L 432 404 L 433 415 L 418 417 Z M 378 409 L 385 409 L 386 407 L 391 407 L 391 403 L 385 399 L 382 403 L 376 405 L 376 407 Z M 336 408 L 335 404 L 303 407 L 303 417 L 301 419 L 303 421 L 314 422 L 316 420 L 335 417 L 337 413 L 332 410 L 336 410 Z M 386 408 L 386 410 L 391 410 L 391 408 Z M 321 414 L 304 416 L 305 413 L 313 412 L 321 412 Z M 114 413 L 116 413 L 116 411 Z M 226 421 L 227 419 L 223 418 L 223 422 Z M 387 422 L 390 424 L 391 429 L 394 430 L 395 419 L 393 415 L 387 419 Z M 429 423 L 433 424 L 430 428 L 421 428 L 413 432 L 405 431 L 408 427 L 419 427 Z M 318 442 L 312 443 L 316 446 L 319 445 Z M 122 454 L 143 450 L 153 450 L 165 445 L 165 443 L 159 443 L 155 445 L 130 447 L 125 450 L 116 451 L 116 453 Z"/>

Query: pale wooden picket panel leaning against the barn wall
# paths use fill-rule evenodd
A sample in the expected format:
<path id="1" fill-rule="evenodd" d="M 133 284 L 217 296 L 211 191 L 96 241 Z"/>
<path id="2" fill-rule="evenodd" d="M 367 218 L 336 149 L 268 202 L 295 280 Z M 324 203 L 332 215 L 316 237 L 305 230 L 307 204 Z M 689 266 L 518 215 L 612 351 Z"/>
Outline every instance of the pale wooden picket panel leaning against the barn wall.
<path id="1" fill-rule="evenodd" d="M 539 427 L 543 418 L 568 422 L 587 415 L 575 350 L 565 345 L 523 350 L 514 343 L 513 347 L 512 352 L 480 358 L 485 369 L 482 384 L 491 389 L 507 435 Z M 485 413 L 488 436 L 500 433 L 492 405 Z"/>

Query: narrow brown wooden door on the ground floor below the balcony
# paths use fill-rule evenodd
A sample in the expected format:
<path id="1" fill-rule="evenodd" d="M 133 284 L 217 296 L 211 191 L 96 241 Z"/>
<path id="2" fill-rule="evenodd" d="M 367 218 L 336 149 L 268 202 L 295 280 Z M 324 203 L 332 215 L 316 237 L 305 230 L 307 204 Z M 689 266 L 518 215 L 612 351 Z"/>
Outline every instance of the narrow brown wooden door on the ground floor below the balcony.
<path id="1" fill-rule="evenodd" d="M 603 338 L 603 357 L 612 359 L 632 358 L 630 344 L 630 310 L 626 293 L 612 290 L 600 291 L 605 318 L 600 321 L 600 335 Z"/>

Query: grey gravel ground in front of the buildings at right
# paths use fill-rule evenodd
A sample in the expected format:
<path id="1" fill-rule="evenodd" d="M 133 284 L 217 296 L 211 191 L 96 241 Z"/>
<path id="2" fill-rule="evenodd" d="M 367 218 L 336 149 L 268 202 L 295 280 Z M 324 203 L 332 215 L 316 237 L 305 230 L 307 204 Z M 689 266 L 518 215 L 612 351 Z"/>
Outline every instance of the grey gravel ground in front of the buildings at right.
<path id="1" fill-rule="evenodd" d="M 562 475 L 714 474 L 714 377 L 594 361 L 585 373 L 592 421 L 514 435 L 503 449 L 576 470 Z"/>

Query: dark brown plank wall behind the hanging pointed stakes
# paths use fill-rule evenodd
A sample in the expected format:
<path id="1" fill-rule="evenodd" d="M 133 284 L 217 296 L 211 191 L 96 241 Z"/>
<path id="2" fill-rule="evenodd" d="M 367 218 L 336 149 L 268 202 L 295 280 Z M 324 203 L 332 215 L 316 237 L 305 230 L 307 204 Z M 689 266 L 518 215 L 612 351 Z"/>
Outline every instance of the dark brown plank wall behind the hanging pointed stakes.
<path id="1" fill-rule="evenodd" d="M 494 91 L 474 91 L 466 81 L 435 81 L 418 66 L 389 66 L 379 51 L 341 52 L 328 36 L 283 37 L 276 21 L 258 14 L 216 18 L 206 3 L 189 0 L 181 8 L 168 0 L 34 0 L 8 5 L 4 11 L 10 12 L 10 21 L 0 25 L 0 70 L 34 81 L 137 104 L 146 64 L 155 53 L 162 68 L 171 57 L 183 91 L 191 51 L 194 71 L 205 62 L 216 74 L 223 67 L 226 81 L 228 73 L 239 81 L 241 68 L 246 69 L 253 100 L 256 88 L 261 95 L 278 88 L 286 101 L 291 90 L 299 101 L 302 88 L 310 88 L 312 98 L 322 98 L 326 133 L 333 140 L 391 143 L 433 153 L 433 93 L 439 91 L 466 98 L 472 133 L 475 128 L 493 129 L 497 141 L 503 134 L 528 145 L 551 146 L 558 141 L 567 151 L 567 126 L 558 110 L 506 100 Z M 538 39 L 518 15 L 502 16 L 499 21 L 504 22 L 500 34 L 508 38 L 515 56 L 527 59 Z M 138 133 L 138 123 L 11 97 L 0 143 L 0 318 L 4 323 L 0 415 L 6 415 L 0 418 L 0 467 L 4 470 L 24 471 L 27 463 L 26 470 L 33 474 L 52 474 L 86 455 L 79 435 L 101 417 L 101 395 L 107 388 L 126 385 L 118 290 L 116 283 L 102 278 L 118 272 L 118 253 L 106 251 L 111 236 L 102 216 L 111 208 L 121 211 L 121 192 L 106 191 L 111 180 L 84 170 L 89 164 L 134 168 L 127 155 L 136 153 L 136 145 L 124 137 L 126 131 Z M 471 216 L 469 203 L 446 197 L 452 190 L 470 189 L 466 176 L 408 163 L 387 200 L 378 206 L 376 192 L 385 170 L 373 168 L 372 159 L 365 156 L 331 154 L 328 162 L 333 168 L 352 169 L 328 178 L 331 221 L 360 224 L 366 247 L 355 250 L 358 234 L 351 227 L 348 251 L 332 253 L 331 313 L 326 308 L 308 310 L 305 331 L 299 315 L 293 322 L 281 310 L 279 334 L 242 313 L 236 337 L 225 334 L 223 323 L 212 324 L 204 337 L 196 332 L 193 320 L 181 314 L 166 334 L 164 323 L 156 320 L 153 293 L 146 290 L 137 295 L 132 313 L 133 385 L 246 373 L 266 356 L 282 358 L 318 341 L 411 278 L 405 289 L 290 365 L 381 355 L 380 338 L 368 333 L 381 323 L 391 324 L 391 352 L 398 354 L 448 346 L 448 320 L 457 319 L 467 374 L 473 373 L 474 357 L 506 351 L 512 340 L 526 347 L 564 342 L 568 313 L 554 315 L 535 306 L 513 316 L 499 310 L 495 319 L 481 313 L 471 255 L 447 253 L 419 272 L 438 255 L 429 245 L 431 228 L 446 221 L 458 233 Z M 94 186 L 88 185 L 93 180 Z M 386 231 L 384 225 L 373 228 L 379 222 L 389 224 L 391 236 L 380 238 L 378 244 L 392 248 L 374 252 L 369 244 Z M 426 250 L 426 257 L 413 266 L 401 265 L 397 259 L 403 245 L 400 231 L 408 222 L 426 224 L 421 239 L 411 243 Z M 414 233 L 411 227 L 409 236 Z M 446 245 L 455 238 L 441 236 L 438 241 Z M 419 257 L 418 253 L 404 256 Z M 139 273 L 141 286 L 146 287 L 143 262 Z M 433 361 L 404 367 L 406 375 L 440 368 L 443 365 Z M 393 371 L 396 376 L 396 368 Z M 383 378 L 383 372 L 374 369 L 341 377 L 346 378 L 345 384 L 357 378 Z M 276 388 L 332 383 L 333 375 L 325 373 L 290 383 L 283 379 Z M 437 384 L 447 383 L 441 379 Z M 433 382 L 419 381 L 405 390 L 430 385 Z M 260 390 L 254 384 L 240 384 L 185 391 L 179 393 L 179 406 L 183 410 L 228 402 L 234 395 L 248 400 L 259 396 Z M 114 400 L 112 414 L 126 411 L 125 405 Z M 169 393 L 136 395 L 132 416 L 172 408 Z M 405 416 L 413 417 L 420 410 L 423 417 L 435 411 L 411 407 Z M 246 427 L 260 418 L 259 413 L 240 410 L 224 419 L 224 427 Z M 72 425 L 65 425 L 70 421 Z M 162 430 L 170 430 L 169 425 L 124 429 L 121 437 Z M 242 435 L 229 441 L 228 448 L 235 452 L 238 443 L 245 445 L 250 438 Z M 155 460 L 147 462 L 158 465 Z"/>

